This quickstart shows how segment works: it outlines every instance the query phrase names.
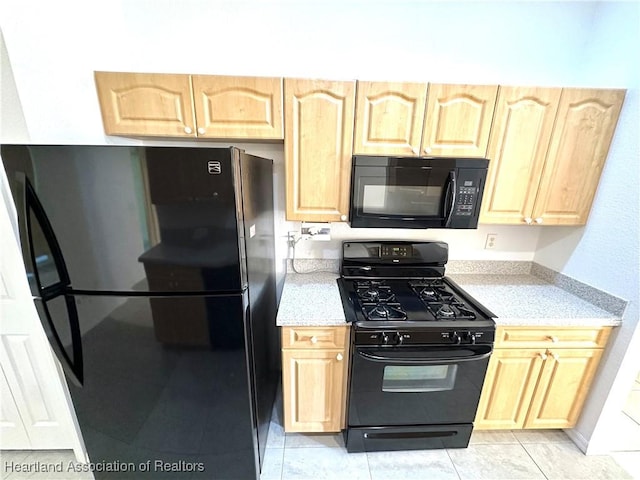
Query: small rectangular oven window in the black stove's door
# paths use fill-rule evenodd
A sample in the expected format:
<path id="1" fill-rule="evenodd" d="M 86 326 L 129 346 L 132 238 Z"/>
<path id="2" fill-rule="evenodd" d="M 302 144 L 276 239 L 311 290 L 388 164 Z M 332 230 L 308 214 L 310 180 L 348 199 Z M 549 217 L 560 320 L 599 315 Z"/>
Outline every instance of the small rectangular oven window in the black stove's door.
<path id="1" fill-rule="evenodd" d="M 457 365 L 387 365 L 383 392 L 441 392 L 453 390 Z"/>

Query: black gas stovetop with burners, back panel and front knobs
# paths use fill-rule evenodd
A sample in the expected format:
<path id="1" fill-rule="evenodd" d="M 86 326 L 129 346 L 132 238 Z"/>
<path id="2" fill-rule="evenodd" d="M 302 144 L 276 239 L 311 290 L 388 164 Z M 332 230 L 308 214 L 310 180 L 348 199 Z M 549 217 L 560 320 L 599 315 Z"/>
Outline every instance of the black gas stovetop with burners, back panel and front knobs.
<path id="1" fill-rule="evenodd" d="M 453 280 L 443 242 L 344 242 L 338 288 L 366 344 L 493 341 L 488 311 Z"/>

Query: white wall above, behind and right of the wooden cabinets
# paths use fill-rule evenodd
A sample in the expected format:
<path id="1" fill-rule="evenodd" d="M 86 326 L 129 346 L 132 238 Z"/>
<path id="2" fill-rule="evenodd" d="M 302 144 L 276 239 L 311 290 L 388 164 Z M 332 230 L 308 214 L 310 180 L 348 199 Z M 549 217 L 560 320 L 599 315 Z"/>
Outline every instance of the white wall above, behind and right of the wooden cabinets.
<path id="1" fill-rule="evenodd" d="M 104 136 L 94 70 L 637 85 L 630 73 L 638 65 L 636 2 L 5 0 L 0 4 L 0 29 L 16 85 L 14 92 L 3 82 L 2 94 L 19 96 L 14 104 L 22 108 L 22 130 L 26 130 L 0 126 L 4 142 L 30 138 L 37 143 L 140 143 Z M 625 267 L 634 258 L 611 253 L 638 249 L 637 241 L 618 229 L 622 194 L 617 190 L 623 181 L 629 182 L 633 192 L 638 188 L 633 177 L 638 169 L 637 103 L 636 89 L 629 92 L 586 229 L 481 227 L 471 232 L 402 234 L 449 241 L 451 258 L 536 259 L 635 299 L 637 304 L 637 296 L 630 291 L 633 282 L 628 280 L 637 281 L 637 270 Z M 282 146 L 248 144 L 246 148 L 271 153 L 278 165 L 276 184 L 281 187 Z M 283 189 L 279 195 L 281 202 Z M 637 232 L 638 202 L 629 200 L 636 220 L 629 225 Z M 616 221 L 611 221 L 611 212 Z M 279 224 L 282 238 L 290 227 L 283 221 Z M 612 248 L 608 240 L 617 231 Z M 329 246 L 301 242 L 300 254 L 336 256 L 341 238 L 389 235 L 380 230 L 349 231 L 340 224 L 334 232 Z M 495 251 L 483 250 L 486 233 L 498 233 Z M 624 276 L 616 273 L 620 269 Z M 625 322 L 637 321 L 634 315 Z M 623 349 L 622 343 L 616 343 L 612 357 L 624 354 Z M 607 360 L 603 372 L 611 373 L 618 363 Z M 608 391 L 598 385 L 597 395 L 604 399 Z M 598 414 L 597 405 L 587 407 L 582 428 L 586 438 Z"/>

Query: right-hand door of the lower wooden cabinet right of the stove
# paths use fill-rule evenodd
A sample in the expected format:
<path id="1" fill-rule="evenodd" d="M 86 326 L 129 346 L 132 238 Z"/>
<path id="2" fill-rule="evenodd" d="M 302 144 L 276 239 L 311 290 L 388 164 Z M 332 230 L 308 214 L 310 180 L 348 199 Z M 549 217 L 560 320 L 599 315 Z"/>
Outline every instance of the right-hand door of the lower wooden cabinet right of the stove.
<path id="1" fill-rule="evenodd" d="M 601 349 L 549 350 L 524 427 L 573 427 L 601 356 Z"/>

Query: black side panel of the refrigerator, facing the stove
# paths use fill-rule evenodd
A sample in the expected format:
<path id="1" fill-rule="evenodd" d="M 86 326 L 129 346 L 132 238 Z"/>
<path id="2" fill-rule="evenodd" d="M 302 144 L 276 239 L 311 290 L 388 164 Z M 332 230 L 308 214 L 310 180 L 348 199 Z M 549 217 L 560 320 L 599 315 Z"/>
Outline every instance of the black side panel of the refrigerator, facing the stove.
<path id="1" fill-rule="evenodd" d="M 261 463 L 280 374 L 276 327 L 273 162 L 238 153 L 241 171 L 242 233 L 249 294 L 250 366 Z"/>

